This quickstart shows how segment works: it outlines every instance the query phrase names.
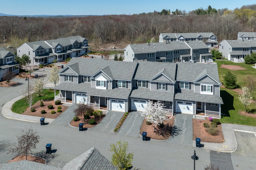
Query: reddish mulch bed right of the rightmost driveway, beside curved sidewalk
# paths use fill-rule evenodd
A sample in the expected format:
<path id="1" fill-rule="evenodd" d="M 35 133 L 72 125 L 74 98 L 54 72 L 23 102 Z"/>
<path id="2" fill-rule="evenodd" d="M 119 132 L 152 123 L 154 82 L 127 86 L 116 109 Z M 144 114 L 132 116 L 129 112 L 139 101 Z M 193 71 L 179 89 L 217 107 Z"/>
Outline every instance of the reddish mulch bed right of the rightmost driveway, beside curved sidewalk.
<path id="1" fill-rule="evenodd" d="M 201 139 L 201 142 L 223 143 L 224 137 L 221 124 L 217 125 L 217 129 L 219 131 L 218 135 L 213 136 L 206 132 L 204 123 L 208 123 L 211 126 L 211 121 L 209 121 L 208 118 L 206 118 L 206 120 L 193 119 L 193 141 L 198 137 Z"/>

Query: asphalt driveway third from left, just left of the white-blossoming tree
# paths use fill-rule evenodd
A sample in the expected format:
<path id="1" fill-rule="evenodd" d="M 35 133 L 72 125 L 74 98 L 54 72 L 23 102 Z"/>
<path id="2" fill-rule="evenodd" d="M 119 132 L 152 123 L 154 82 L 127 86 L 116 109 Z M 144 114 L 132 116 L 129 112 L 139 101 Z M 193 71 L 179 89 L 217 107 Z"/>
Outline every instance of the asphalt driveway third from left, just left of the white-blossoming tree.
<path id="1" fill-rule="evenodd" d="M 125 136 L 138 137 L 143 119 L 140 112 L 130 112 L 117 133 Z"/>

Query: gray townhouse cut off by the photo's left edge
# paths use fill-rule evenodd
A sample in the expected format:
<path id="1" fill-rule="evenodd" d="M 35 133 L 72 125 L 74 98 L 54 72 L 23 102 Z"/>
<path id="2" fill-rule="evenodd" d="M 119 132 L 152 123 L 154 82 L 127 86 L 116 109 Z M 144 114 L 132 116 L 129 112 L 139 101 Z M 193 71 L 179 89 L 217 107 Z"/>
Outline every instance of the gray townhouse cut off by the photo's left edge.
<path id="1" fill-rule="evenodd" d="M 0 80 L 16 73 L 19 73 L 19 63 L 15 62 L 15 55 L 0 47 Z"/>

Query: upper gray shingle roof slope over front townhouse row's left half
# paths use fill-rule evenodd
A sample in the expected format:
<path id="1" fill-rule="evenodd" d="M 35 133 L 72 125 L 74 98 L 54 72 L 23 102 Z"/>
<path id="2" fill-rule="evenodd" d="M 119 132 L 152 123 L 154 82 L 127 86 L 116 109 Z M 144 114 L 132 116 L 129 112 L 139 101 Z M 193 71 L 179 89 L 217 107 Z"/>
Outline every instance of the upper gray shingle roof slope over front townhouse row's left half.
<path id="1" fill-rule="evenodd" d="M 94 75 L 98 71 L 105 69 L 113 76 L 113 79 L 119 80 L 132 80 L 135 68 L 137 66 L 136 62 L 123 62 L 123 61 L 112 61 L 112 60 L 96 60 L 92 58 L 71 58 L 67 66 L 78 63 L 79 73 L 81 75 Z"/>

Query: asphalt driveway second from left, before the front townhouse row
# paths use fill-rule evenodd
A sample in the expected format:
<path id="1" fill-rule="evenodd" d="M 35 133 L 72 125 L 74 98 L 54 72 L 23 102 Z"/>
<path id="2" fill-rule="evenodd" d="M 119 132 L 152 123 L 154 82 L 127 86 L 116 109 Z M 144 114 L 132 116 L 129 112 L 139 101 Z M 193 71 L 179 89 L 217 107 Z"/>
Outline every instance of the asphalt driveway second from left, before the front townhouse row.
<path id="1" fill-rule="evenodd" d="M 89 128 L 88 130 L 94 130 L 98 132 L 114 133 L 114 129 L 121 120 L 124 112 L 109 111 L 106 116 L 100 121 L 99 124 Z"/>

